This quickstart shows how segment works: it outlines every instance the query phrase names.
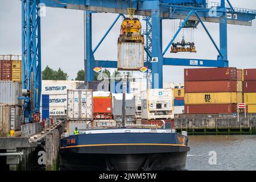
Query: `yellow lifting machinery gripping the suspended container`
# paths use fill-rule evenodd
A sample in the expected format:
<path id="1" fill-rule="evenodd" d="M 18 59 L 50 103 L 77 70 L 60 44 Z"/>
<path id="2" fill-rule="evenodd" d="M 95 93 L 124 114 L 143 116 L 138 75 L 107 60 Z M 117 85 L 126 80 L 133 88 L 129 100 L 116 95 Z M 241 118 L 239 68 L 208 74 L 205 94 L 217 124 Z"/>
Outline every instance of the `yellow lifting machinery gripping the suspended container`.
<path id="1" fill-rule="evenodd" d="M 144 36 L 141 34 L 141 22 L 134 18 L 134 9 L 128 9 L 129 18 L 125 18 L 121 25 L 121 35 L 118 43 L 144 43 Z"/>

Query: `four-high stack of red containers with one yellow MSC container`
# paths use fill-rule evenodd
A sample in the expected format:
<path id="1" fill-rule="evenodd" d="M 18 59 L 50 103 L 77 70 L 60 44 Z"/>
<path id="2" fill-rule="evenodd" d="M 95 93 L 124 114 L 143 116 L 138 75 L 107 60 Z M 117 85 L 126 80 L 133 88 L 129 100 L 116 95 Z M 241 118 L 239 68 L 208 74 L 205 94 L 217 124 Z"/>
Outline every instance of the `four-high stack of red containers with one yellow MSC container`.
<path id="1" fill-rule="evenodd" d="M 185 69 L 185 114 L 236 113 L 242 98 L 242 70 Z"/>

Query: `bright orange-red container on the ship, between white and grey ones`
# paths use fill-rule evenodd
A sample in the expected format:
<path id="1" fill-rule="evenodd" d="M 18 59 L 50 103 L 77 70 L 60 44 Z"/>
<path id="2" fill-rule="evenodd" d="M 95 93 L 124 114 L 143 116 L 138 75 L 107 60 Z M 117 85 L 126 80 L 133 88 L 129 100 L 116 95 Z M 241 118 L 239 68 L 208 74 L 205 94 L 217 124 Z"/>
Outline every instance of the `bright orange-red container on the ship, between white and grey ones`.
<path id="1" fill-rule="evenodd" d="M 112 96 L 111 95 L 109 97 L 93 97 L 93 116 L 94 116 L 94 119 L 112 118 Z"/>

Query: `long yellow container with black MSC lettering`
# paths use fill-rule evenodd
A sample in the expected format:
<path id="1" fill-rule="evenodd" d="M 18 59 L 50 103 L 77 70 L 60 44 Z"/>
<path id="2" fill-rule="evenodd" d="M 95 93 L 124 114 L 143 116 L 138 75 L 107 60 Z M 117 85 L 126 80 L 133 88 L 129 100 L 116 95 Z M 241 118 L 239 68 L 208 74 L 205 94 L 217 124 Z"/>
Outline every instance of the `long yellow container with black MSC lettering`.
<path id="1" fill-rule="evenodd" d="M 242 92 L 186 93 L 185 105 L 237 104 L 243 101 Z"/>

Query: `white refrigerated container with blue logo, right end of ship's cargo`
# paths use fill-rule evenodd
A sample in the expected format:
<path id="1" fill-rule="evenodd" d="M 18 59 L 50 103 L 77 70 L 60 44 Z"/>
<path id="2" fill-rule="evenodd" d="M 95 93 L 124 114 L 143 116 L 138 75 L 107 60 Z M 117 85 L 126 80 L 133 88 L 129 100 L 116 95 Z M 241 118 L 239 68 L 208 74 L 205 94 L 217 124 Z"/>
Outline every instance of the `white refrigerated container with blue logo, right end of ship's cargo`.
<path id="1" fill-rule="evenodd" d="M 174 118 L 172 89 L 142 91 L 142 119 Z"/>

